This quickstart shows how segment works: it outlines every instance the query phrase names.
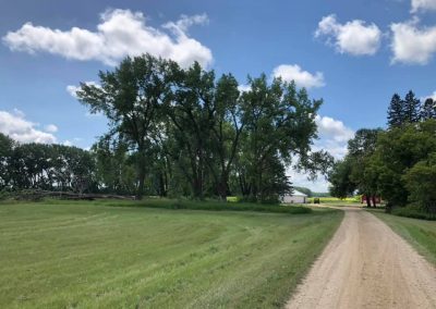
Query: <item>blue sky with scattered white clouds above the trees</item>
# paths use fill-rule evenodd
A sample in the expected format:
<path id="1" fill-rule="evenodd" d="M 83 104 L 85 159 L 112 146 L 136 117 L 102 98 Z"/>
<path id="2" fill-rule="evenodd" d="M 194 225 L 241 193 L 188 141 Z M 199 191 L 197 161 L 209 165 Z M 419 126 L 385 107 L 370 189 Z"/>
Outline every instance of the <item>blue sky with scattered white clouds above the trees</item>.
<path id="1" fill-rule="evenodd" d="M 436 0 L 0 1 L 0 132 L 89 147 L 106 129 L 70 94 L 126 54 L 280 75 L 323 98 L 315 148 L 384 126 L 393 92 L 435 96 Z M 295 185 L 325 189 L 325 181 Z"/>

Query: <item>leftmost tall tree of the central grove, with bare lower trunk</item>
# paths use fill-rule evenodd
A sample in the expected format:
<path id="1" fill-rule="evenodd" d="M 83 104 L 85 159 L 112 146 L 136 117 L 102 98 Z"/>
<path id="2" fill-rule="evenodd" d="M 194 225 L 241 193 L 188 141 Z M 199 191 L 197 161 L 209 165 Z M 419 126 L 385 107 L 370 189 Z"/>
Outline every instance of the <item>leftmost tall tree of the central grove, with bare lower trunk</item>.
<path id="1" fill-rule="evenodd" d="M 77 91 L 80 101 L 92 113 L 102 113 L 109 120 L 109 135 L 136 151 L 137 198 L 144 194 L 146 151 L 159 121 L 159 107 L 169 91 L 166 73 L 170 65 L 149 54 L 126 58 L 114 71 L 99 72 L 100 86 L 81 83 Z"/>

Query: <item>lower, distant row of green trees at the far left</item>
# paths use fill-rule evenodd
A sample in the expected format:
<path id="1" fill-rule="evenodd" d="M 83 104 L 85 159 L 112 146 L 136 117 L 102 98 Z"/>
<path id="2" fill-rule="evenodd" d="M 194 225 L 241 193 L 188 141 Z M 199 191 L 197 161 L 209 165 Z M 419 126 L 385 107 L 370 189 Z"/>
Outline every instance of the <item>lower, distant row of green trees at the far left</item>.
<path id="1" fill-rule="evenodd" d="M 76 147 L 21 145 L 0 134 L 0 189 L 96 189 L 94 157 Z"/>

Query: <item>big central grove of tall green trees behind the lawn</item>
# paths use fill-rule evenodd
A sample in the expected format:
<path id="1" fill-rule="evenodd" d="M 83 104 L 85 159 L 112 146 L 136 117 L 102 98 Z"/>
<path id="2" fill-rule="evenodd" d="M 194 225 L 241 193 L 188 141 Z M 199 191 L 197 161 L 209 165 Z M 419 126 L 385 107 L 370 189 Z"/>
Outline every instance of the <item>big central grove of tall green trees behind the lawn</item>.
<path id="1" fill-rule="evenodd" d="M 269 201 L 292 190 L 287 168 L 325 173 L 331 157 L 311 150 L 322 100 L 264 74 L 249 77 L 247 86 L 241 91 L 231 74 L 217 78 L 198 63 L 183 69 L 149 54 L 99 72 L 98 86 L 82 83 L 80 101 L 92 113 L 104 114 L 109 126 L 90 151 L 82 150 L 93 161 L 86 189 L 138 198 L 238 195 Z M 13 148 L 21 147 L 25 145 Z M 56 180 L 51 184 L 59 189 L 58 178 L 46 170 L 37 183 Z M 76 190 L 76 182 L 62 186 Z M 8 186 L 16 189 L 22 183 Z"/>

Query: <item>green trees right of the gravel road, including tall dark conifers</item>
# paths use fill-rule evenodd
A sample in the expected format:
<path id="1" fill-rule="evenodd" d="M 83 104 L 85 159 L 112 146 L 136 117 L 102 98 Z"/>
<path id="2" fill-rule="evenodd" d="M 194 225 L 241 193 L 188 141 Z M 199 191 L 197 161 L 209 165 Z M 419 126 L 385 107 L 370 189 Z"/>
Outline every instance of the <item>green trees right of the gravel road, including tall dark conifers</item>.
<path id="1" fill-rule="evenodd" d="M 388 211 L 411 206 L 436 213 L 436 102 L 396 94 L 387 120 L 387 129 L 359 129 L 349 140 L 348 154 L 329 175 L 331 195 L 359 190 L 380 196 Z"/>

